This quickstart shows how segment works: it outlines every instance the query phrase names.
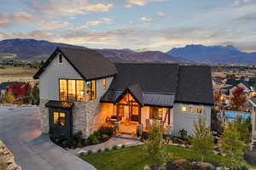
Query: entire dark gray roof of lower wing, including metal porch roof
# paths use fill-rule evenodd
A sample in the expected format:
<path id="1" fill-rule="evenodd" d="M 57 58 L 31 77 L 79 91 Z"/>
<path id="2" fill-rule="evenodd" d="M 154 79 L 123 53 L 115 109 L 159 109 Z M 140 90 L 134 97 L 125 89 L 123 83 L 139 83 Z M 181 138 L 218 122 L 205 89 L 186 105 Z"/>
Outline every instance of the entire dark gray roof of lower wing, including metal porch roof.
<path id="1" fill-rule="evenodd" d="M 115 103 L 127 88 L 137 84 L 132 94 L 143 94 L 143 105 L 170 107 L 174 99 L 181 103 L 214 104 L 210 67 L 131 63 L 116 64 L 116 67 L 119 74 L 102 96 L 102 102 Z"/>

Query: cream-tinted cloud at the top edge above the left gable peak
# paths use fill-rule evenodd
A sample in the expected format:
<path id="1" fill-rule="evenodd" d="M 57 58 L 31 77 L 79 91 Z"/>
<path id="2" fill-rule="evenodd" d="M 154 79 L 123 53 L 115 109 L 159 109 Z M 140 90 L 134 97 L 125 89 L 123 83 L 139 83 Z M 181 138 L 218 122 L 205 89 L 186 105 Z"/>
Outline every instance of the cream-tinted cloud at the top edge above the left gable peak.
<path id="1" fill-rule="evenodd" d="M 87 14 L 89 12 L 108 12 L 113 8 L 113 4 L 91 4 L 89 3 L 89 0 L 63 0 L 61 3 L 59 0 L 33 0 L 29 4 L 29 7 L 41 14 L 55 16 L 65 14 Z"/>

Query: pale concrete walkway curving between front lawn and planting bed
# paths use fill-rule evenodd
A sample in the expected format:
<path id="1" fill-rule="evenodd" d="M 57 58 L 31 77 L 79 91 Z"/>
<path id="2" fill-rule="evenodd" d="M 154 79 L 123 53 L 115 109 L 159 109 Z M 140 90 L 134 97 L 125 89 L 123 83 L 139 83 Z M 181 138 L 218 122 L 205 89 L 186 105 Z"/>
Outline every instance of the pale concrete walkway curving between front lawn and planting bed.
<path id="1" fill-rule="evenodd" d="M 139 145 L 143 143 L 137 139 L 122 139 L 119 137 L 112 137 L 107 142 L 104 142 L 102 144 L 93 144 L 90 146 L 85 146 L 83 148 L 77 148 L 75 150 L 69 150 L 69 151 L 74 155 L 78 155 L 80 150 L 92 150 L 93 152 L 96 152 L 99 149 L 101 150 L 104 150 L 105 148 L 112 149 L 114 145 L 121 147 L 122 144 L 125 144 L 125 147 L 129 147 L 129 146 Z"/>

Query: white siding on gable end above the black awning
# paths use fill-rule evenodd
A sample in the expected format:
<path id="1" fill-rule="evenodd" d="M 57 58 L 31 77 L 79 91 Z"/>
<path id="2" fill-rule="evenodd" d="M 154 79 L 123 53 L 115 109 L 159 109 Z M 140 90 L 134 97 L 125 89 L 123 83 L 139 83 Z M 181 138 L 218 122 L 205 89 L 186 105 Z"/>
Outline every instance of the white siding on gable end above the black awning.
<path id="1" fill-rule="evenodd" d="M 83 79 L 64 57 L 62 63 L 56 56 L 39 77 L 40 99 L 59 100 L 59 79 Z"/>

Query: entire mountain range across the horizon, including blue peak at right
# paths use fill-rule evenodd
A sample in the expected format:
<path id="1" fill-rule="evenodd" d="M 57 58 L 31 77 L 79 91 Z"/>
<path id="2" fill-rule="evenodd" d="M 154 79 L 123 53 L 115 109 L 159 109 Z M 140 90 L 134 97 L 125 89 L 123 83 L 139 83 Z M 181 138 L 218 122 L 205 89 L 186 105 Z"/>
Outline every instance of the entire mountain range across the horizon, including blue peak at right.
<path id="1" fill-rule="evenodd" d="M 7 39 L 0 41 L 0 59 L 43 60 L 47 59 L 57 47 L 85 48 L 34 39 Z M 167 53 L 138 52 L 129 48 L 95 50 L 116 62 L 256 64 L 256 53 L 242 52 L 231 45 L 187 45 L 184 48 L 172 48 Z"/>

